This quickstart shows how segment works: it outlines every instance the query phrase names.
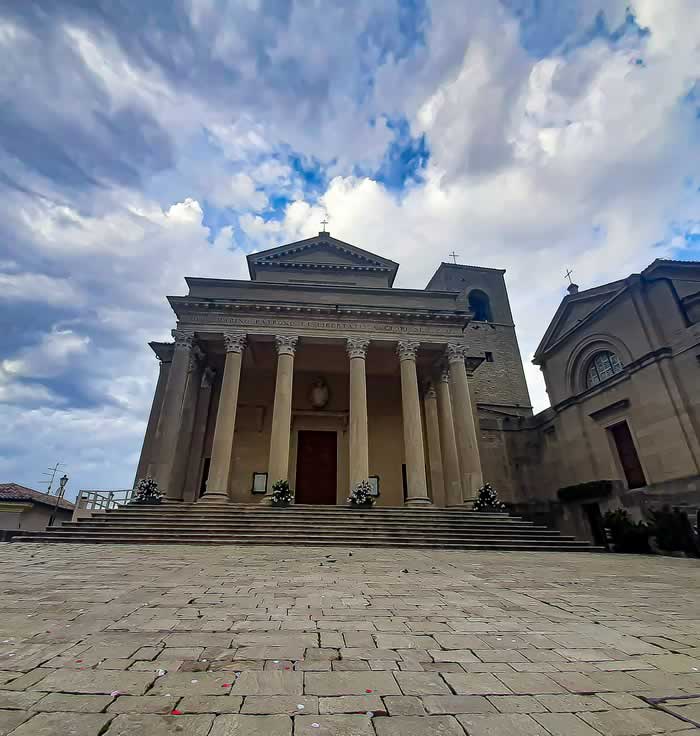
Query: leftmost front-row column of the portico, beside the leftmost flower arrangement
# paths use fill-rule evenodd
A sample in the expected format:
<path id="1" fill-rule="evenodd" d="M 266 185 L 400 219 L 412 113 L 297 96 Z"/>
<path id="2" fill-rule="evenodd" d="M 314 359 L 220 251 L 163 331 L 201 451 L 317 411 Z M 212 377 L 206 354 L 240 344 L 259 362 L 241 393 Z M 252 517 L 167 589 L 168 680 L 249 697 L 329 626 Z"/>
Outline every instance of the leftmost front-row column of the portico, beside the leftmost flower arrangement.
<path id="1" fill-rule="evenodd" d="M 175 463 L 175 448 L 180 434 L 182 403 L 190 368 L 194 335 L 183 330 L 173 330 L 175 349 L 168 374 L 168 385 L 163 396 L 163 406 L 156 429 L 156 452 L 150 475 L 158 482 L 162 493 L 169 495 L 170 478 Z"/>

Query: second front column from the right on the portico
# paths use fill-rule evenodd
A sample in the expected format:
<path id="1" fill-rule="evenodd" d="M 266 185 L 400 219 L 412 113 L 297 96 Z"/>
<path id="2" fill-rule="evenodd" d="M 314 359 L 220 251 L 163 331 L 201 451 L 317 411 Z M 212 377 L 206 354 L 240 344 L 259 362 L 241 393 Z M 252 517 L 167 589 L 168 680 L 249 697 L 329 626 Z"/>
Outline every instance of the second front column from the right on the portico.
<path id="1" fill-rule="evenodd" d="M 418 396 L 416 352 L 420 344 L 401 341 L 396 352 L 401 365 L 401 406 L 403 413 L 403 441 L 406 456 L 406 484 L 409 506 L 429 504 L 428 483 L 425 478 L 423 427 Z"/>

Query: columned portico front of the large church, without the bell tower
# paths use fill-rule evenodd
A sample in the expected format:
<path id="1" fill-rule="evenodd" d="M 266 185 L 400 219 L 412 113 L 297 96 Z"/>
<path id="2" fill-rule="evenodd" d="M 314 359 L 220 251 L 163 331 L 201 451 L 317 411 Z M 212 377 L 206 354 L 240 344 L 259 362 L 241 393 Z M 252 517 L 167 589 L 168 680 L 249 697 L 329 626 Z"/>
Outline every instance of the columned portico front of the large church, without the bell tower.
<path id="1" fill-rule="evenodd" d="M 345 504 L 363 480 L 378 505 L 471 499 L 481 466 L 458 293 L 378 286 L 396 264 L 377 256 L 347 264 L 371 286 L 321 283 L 324 248 L 333 276 L 353 246 L 311 240 L 313 282 L 297 262 L 287 282 L 188 279 L 190 294 L 170 297 L 175 344 L 139 468 L 168 498 L 202 503 L 263 503 L 278 480 L 297 503 Z M 268 253 L 251 256 L 258 279 Z"/>

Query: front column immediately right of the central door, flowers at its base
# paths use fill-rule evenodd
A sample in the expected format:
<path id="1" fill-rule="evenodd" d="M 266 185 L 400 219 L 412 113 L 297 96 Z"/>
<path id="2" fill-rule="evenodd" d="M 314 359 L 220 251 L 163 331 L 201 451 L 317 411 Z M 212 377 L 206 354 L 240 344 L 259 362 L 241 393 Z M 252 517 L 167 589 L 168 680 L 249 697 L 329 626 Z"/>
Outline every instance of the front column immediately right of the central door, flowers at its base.
<path id="1" fill-rule="evenodd" d="M 350 337 L 350 490 L 369 477 L 369 444 L 367 439 L 367 376 L 365 359 L 369 340 Z"/>

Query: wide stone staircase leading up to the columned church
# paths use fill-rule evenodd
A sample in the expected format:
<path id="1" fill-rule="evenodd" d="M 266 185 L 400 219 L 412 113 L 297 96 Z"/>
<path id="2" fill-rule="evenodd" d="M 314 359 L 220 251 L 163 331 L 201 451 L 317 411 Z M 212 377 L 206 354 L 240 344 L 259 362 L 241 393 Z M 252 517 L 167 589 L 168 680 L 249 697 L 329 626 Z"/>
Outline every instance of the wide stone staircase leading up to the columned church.
<path id="1" fill-rule="evenodd" d="M 292 544 L 598 552 L 588 542 L 517 516 L 462 508 L 163 503 L 121 506 L 25 532 L 14 542 L 91 544 Z"/>

